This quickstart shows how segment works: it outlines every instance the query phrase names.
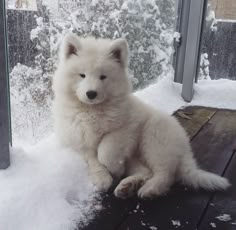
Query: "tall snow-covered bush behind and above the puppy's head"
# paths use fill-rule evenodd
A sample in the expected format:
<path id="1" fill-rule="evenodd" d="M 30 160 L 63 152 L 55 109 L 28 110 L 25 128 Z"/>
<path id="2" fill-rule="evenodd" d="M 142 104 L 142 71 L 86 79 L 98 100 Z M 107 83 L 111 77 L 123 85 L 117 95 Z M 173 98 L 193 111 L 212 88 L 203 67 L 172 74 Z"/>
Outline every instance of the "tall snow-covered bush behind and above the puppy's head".
<path id="1" fill-rule="evenodd" d="M 57 16 L 51 14 L 49 18 L 49 23 L 41 17 L 36 19 L 38 26 L 31 38 L 38 41 L 42 52 L 50 50 L 54 68 L 64 34 L 73 31 L 80 36 L 126 38 L 135 89 L 147 86 L 170 69 L 174 0 L 66 1 L 59 5 Z"/>

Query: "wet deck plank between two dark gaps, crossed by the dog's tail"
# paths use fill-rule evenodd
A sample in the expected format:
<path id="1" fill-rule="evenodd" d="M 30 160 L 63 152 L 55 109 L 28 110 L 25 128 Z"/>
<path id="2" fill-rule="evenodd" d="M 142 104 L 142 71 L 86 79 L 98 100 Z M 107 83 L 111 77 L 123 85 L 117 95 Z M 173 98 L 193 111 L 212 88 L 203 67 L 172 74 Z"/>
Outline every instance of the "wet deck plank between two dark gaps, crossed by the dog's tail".
<path id="1" fill-rule="evenodd" d="M 208 171 L 222 174 L 231 158 L 236 140 L 235 115 L 232 111 L 216 112 L 192 141 L 200 165 Z M 165 197 L 140 201 L 139 209 L 133 210 L 119 230 L 196 229 L 213 194 L 176 186 Z"/>

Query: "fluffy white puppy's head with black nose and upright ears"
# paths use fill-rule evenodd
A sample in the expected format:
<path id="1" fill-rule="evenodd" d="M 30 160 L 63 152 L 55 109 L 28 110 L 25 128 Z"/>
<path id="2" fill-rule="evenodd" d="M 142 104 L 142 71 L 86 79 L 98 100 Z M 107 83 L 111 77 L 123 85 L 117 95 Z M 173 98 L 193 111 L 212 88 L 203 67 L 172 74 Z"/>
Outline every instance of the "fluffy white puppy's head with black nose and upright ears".
<path id="1" fill-rule="evenodd" d="M 68 34 L 61 46 L 54 81 L 64 92 L 72 92 L 80 102 L 100 104 L 130 92 L 127 68 L 126 40 L 80 38 Z"/>

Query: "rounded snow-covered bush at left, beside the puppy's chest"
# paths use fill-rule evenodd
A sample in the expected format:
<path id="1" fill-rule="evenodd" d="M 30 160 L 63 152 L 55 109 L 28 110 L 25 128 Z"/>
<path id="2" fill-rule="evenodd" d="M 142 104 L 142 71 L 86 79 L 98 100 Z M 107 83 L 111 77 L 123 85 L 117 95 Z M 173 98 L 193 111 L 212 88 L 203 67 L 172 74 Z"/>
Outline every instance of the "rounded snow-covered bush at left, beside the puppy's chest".
<path id="1" fill-rule="evenodd" d="M 41 68 L 18 64 L 10 73 L 13 139 L 35 142 L 49 132 L 51 91 Z"/>

